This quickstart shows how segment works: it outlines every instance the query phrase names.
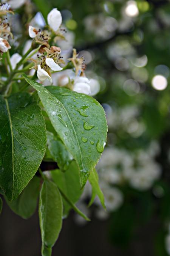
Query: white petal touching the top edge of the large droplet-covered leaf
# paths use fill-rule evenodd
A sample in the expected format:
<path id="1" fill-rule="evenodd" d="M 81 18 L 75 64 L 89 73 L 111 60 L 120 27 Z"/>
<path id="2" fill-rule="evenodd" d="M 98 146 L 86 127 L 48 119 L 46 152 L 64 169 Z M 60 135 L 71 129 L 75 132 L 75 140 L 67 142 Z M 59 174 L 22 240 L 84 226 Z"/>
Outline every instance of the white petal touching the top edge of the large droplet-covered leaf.
<path id="1" fill-rule="evenodd" d="M 86 77 L 76 77 L 74 79 L 73 91 L 77 93 L 90 94 L 90 81 Z"/>

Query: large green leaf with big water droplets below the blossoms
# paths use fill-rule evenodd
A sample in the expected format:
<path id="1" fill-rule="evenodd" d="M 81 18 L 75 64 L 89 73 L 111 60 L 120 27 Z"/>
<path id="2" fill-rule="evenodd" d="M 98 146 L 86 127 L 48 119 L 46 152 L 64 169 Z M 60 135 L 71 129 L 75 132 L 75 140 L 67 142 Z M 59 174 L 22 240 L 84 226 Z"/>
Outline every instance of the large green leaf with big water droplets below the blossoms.
<path id="1" fill-rule="evenodd" d="M 59 86 L 25 80 L 38 91 L 56 132 L 80 168 L 83 187 L 104 150 L 107 122 L 102 106 L 92 97 Z"/>

